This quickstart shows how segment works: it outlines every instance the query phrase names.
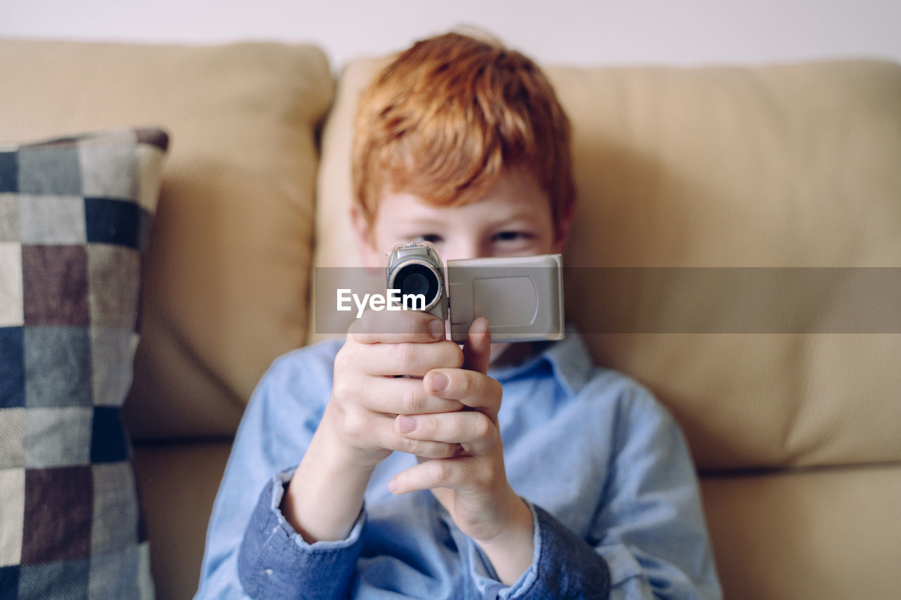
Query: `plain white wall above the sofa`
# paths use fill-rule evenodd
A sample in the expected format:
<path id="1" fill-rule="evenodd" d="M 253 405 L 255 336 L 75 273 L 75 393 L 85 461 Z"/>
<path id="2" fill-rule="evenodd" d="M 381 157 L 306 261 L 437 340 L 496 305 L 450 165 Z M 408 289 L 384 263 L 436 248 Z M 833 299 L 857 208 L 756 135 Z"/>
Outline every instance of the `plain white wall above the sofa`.
<path id="1" fill-rule="evenodd" d="M 460 23 L 548 63 L 901 61 L 899 0 L 0 0 L 0 37 L 309 41 L 335 66 Z"/>

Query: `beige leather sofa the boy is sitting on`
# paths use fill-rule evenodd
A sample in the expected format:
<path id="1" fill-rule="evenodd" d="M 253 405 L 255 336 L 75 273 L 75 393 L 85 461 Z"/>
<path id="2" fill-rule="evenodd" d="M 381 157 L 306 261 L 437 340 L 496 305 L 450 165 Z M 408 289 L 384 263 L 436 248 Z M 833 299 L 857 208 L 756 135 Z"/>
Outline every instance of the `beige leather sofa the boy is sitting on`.
<path id="1" fill-rule="evenodd" d="M 312 268 L 355 264 L 350 114 L 377 65 L 0 43 L 0 140 L 171 135 L 125 405 L 159 598 L 196 590 L 256 380 L 322 337 Z M 687 432 L 725 594 L 898 597 L 901 67 L 548 70 L 575 132 L 569 317 Z"/>

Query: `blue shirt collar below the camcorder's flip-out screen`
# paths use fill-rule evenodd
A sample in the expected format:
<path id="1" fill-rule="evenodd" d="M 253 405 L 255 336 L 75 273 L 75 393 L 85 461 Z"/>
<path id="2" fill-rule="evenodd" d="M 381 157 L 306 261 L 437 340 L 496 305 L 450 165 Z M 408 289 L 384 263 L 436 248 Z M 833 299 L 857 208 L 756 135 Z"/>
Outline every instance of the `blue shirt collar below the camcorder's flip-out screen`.
<path id="1" fill-rule="evenodd" d="M 591 377 L 594 365 L 585 341 L 574 326 L 567 326 L 566 337 L 563 340 L 551 343 L 539 342 L 534 344 L 534 347 L 535 353 L 518 365 L 489 369 L 488 375 L 503 383 L 547 365 L 570 395 L 578 394 Z"/>

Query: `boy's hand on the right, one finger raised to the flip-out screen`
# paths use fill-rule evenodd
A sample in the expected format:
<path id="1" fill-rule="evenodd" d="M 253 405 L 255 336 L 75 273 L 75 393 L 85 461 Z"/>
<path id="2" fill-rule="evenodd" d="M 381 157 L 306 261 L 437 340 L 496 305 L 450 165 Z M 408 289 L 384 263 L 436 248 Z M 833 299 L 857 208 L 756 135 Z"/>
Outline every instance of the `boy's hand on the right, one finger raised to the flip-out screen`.
<path id="1" fill-rule="evenodd" d="M 462 368 L 435 368 L 423 379 L 430 396 L 468 407 L 458 412 L 398 414 L 410 440 L 460 447 L 452 458 L 422 457 L 389 483 L 395 494 L 431 489 L 460 531 L 482 547 L 501 580 L 512 584 L 532 564 L 532 512 L 506 478 L 497 424 L 502 388 L 486 375 L 491 338 L 484 318 L 469 329 Z"/>

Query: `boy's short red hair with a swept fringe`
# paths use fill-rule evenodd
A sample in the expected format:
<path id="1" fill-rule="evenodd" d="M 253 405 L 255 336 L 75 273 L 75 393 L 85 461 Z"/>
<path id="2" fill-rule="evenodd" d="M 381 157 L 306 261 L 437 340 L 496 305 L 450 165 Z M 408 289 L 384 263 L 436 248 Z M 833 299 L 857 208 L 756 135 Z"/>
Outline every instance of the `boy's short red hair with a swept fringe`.
<path id="1" fill-rule="evenodd" d="M 363 92 L 356 126 L 353 187 L 369 224 L 387 192 L 469 204 L 514 166 L 547 193 L 555 224 L 572 205 L 569 119 L 532 59 L 496 41 L 416 42 Z"/>

